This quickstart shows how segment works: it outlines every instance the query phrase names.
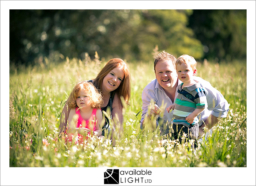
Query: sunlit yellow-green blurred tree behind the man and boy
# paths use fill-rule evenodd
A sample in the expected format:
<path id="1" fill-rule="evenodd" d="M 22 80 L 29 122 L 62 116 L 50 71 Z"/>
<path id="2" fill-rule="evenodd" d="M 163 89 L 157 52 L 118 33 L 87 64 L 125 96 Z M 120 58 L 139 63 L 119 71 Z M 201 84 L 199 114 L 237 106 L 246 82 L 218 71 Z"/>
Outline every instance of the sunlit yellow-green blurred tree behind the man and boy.
<path id="1" fill-rule="evenodd" d="M 152 48 L 157 44 L 160 50 L 166 50 L 178 57 L 189 54 L 195 59 L 203 56 L 203 45 L 195 38 L 192 29 L 187 27 L 192 10 L 148 10 L 143 12 L 146 23 L 142 25 L 144 40 L 141 43 Z M 152 38 L 150 40 L 149 38 Z M 147 49 L 149 53 L 152 49 Z M 151 57 L 151 56 L 150 56 Z"/>

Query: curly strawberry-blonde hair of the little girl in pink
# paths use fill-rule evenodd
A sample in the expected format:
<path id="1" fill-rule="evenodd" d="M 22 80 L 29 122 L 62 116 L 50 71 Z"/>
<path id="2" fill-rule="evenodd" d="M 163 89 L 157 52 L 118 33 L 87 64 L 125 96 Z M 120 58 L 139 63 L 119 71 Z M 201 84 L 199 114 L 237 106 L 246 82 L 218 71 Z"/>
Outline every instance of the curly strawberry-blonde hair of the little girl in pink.
<path id="1" fill-rule="evenodd" d="M 75 85 L 70 94 L 70 101 L 69 103 L 67 103 L 67 105 L 71 109 L 78 107 L 78 105 L 76 104 L 76 98 L 78 98 L 78 94 L 81 90 L 85 90 L 88 93 L 91 102 L 91 107 L 93 109 L 101 108 L 101 105 L 103 104 L 101 93 L 96 89 L 96 87 L 91 82 L 82 81 Z"/>

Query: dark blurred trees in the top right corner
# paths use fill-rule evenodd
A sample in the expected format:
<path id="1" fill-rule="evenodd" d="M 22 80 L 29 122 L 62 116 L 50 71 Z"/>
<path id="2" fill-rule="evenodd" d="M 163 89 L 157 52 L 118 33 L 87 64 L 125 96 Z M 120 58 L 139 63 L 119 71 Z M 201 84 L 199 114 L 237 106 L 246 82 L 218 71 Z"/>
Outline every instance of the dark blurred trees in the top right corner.
<path id="1" fill-rule="evenodd" d="M 189 18 L 208 60 L 246 59 L 246 10 L 194 10 Z"/>

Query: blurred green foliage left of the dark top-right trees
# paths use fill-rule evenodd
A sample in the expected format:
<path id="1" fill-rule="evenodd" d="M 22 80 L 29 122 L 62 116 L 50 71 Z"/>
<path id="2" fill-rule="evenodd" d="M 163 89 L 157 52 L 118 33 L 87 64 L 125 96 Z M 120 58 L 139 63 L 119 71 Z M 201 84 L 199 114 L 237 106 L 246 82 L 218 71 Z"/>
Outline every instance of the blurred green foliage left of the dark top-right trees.
<path id="1" fill-rule="evenodd" d="M 10 10 L 11 64 L 54 63 L 64 56 L 84 60 L 98 51 L 106 59 L 151 60 L 152 48 L 178 57 L 203 56 L 187 27 L 192 10 Z M 12 45 L 14 44 L 15 45 Z"/>

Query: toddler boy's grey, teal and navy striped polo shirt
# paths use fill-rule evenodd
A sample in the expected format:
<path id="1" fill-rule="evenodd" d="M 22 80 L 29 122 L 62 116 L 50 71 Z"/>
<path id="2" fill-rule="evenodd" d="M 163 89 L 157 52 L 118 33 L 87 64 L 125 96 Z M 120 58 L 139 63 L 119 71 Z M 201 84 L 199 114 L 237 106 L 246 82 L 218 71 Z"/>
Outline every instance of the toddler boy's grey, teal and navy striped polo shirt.
<path id="1" fill-rule="evenodd" d="M 186 121 L 186 117 L 195 109 L 207 108 L 207 100 L 204 89 L 200 83 L 187 86 L 182 89 L 183 83 L 178 87 L 178 96 L 175 100 L 173 112 L 174 124 L 182 124 L 189 127 L 190 123 Z M 198 123 L 198 118 L 194 119 L 192 125 Z"/>

